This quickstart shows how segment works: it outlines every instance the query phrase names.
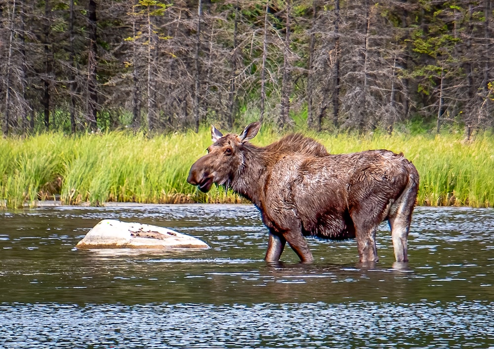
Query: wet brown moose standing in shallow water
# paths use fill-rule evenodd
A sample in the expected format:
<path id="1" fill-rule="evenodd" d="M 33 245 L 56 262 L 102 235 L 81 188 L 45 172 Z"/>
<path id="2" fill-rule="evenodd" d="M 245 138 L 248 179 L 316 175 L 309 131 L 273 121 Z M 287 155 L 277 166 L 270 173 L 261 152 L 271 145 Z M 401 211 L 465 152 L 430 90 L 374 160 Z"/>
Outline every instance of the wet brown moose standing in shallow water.
<path id="1" fill-rule="evenodd" d="M 213 144 L 187 182 L 204 193 L 213 183 L 226 186 L 250 200 L 269 230 L 267 262 L 279 261 L 288 242 L 301 263 L 312 263 L 304 236 L 355 238 L 360 262 L 377 262 L 375 234 L 386 219 L 396 261 L 408 261 L 419 181 L 412 162 L 388 150 L 333 155 L 300 134 L 257 147 L 249 141 L 260 127 L 223 135 L 212 126 Z"/>

